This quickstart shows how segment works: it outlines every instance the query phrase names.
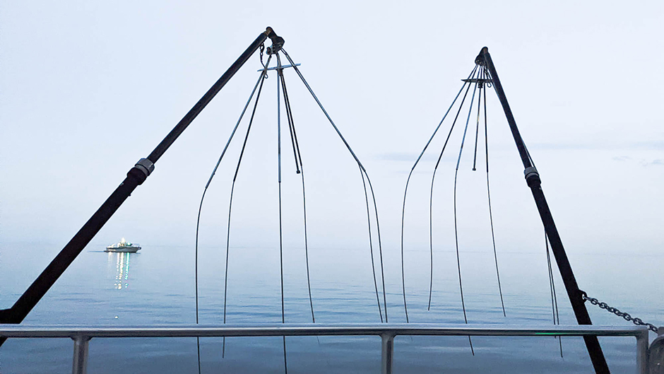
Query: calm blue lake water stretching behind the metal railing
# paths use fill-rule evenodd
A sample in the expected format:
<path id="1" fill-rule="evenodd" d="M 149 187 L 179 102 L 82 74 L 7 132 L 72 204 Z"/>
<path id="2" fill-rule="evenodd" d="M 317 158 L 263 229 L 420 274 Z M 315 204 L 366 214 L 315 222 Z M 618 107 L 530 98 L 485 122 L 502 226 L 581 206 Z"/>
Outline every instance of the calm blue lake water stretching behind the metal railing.
<path id="1" fill-rule="evenodd" d="M 150 246 L 136 254 L 102 252 L 88 245 L 25 325 L 143 326 L 193 324 L 193 247 Z M 42 271 L 58 248 L 3 243 L 0 248 L 0 308 L 8 308 Z M 201 324 L 223 322 L 223 247 L 201 247 Z M 380 322 L 368 248 L 310 248 L 316 322 Z M 390 322 L 405 322 L 398 248 L 385 247 Z M 656 282 L 664 256 L 569 252 L 579 284 L 591 296 L 636 317 L 662 324 L 664 298 Z M 434 253 L 432 308 L 429 252 L 406 253 L 410 322 L 463 323 L 456 255 Z M 285 320 L 311 322 L 304 250 L 285 247 Z M 503 317 L 492 250 L 461 253 L 464 296 L 470 324 L 552 325 L 543 248 L 499 252 L 507 317 Z M 227 323 L 281 322 L 277 248 L 232 247 Z M 557 269 L 555 269 L 557 272 Z M 574 324 L 562 281 L 557 277 L 560 319 Z M 593 290 L 593 291 L 591 291 Z M 382 298 L 382 296 L 381 296 Z M 588 305 L 596 325 L 628 322 Z M 651 339 L 653 336 L 651 336 Z M 290 337 L 289 373 L 378 373 L 379 337 Z M 600 338 L 613 373 L 634 373 L 635 339 Z M 0 348 L 0 373 L 68 373 L 70 339 L 9 339 Z M 203 373 L 283 373 L 280 337 L 201 339 Z M 397 337 L 396 373 L 590 373 L 581 338 L 476 337 L 475 356 L 467 337 Z M 93 339 L 89 373 L 196 373 L 196 339 Z"/>

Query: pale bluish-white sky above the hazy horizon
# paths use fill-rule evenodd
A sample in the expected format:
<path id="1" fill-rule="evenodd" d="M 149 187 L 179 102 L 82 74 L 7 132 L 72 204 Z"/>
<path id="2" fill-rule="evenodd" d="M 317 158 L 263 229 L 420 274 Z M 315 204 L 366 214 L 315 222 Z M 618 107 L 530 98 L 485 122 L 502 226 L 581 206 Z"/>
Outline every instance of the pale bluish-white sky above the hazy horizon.
<path id="1" fill-rule="evenodd" d="M 270 25 L 372 176 L 388 255 L 398 254 L 408 170 L 485 45 L 567 250 L 663 247 L 661 1 L 1 4 L 0 242 L 64 246 Z M 256 54 L 93 243 L 125 237 L 193 245 L 203 187 L 260 67 Z M 311 244 L 364 247 L 357 167 L 294 72 L 285 74 L 308 173 Z M 273 73 L 237 182 L 235 245 L 277 243 L 275 85 Z M 541 244 L 539 218 L 497 97 L 492 90 L 487 97 L 497 237 L 527 250 Z M 246 124 L 206 197 L 201 241 L 209 245 L 225 244 L 228 189 Z M 300 182 L 284 135 L 285 240 L 297 243 Z M 427 153 L 411 182 L 413 249 L 427 248 L 427 183 L 438 151 Z M 456 161 L 458 144 L 450 151 Z M 481 245 L 485 175 L 470 174 L 472 147 L 465 151 L 460 235 Z M 439 173 L 449 179 L 453 162 L 446 168 Z M 446 233 L 451 190 L 446 177 L 437 183 L 437 224 Z"/>

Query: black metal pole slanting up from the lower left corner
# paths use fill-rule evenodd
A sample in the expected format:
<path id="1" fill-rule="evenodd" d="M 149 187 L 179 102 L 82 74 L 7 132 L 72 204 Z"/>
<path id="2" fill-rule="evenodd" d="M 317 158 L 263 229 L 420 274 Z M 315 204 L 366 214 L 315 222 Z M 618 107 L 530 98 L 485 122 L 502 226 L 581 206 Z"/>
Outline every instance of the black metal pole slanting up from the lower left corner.
<path id="1" fill-rule="evenodd" d="M 247 62 L 251 54 L 259 49 L 261 44 L 270 37 L 273 43 L 273 48 L 280 48 L 283 45 L 283 38 L 274 33 L 272 28 L 266 28 L 264 33 L 261 33 L 256 40 L 249 45 L 249 47 L 235 60 L 235 62 L 228 68 L 228 70 L 216 81 L 215 84 L 206 92 L 205 95 L 198 100 L 198 103 L 186 113 L 186 115 L 178 122 L 172 131 L 161 141 L 148 158 L 141 158 L 136 163 L 134 168 L 129 170 L 124 181 L 115 189 L 111 196 L 104 201 L 104 204 L 93 214 L 88 222 L 83 225 L 81 230 L 69 240 L 67 245 L 59 252 L 53 261 L 46 267 L 40 276 L 37 276 L 34 282 L 28 287 L 23 295 L 18 298 L 16 303 L 9 308 L 0 310 L 0 323 L 20 323 L 25 319 L 30 310 L 37 305 L 39 300 L 49 291 L 49 288 L 57 281 L 57 279 L 64 273 L 74 259 L 81 253 L 85 245 L 92 240 L 95 235 L 101 230 L 105 223 L 113 216 L 115 211 L 121 204 L 131 195 L 131 192 L 145 182 L 146 178 L 154 170 L 154 163 L 164 154 L 168 147 L 173 144 L 184 129 L 186 129 L 191 121 L 203 110 L 203 108 L 210 103 L 215 95 L 225 86 L 227 81 L 239 70 L 239 68 Z M 5 338 L 0 338 L 0 345 L 4 342 Z"/>

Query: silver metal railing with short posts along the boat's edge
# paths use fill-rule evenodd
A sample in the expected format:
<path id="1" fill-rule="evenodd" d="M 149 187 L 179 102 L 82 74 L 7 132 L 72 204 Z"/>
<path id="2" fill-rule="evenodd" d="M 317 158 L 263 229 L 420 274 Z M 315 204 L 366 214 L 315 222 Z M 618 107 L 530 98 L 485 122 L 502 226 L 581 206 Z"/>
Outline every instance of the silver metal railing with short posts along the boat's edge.
<path id="1" fill-rule="evenodd" d="M 472 327 L 471 327 L 472 326 Z M 0 325 L 0 337 L 7 338 L 71 338 L 73 344 L 73 374 L 86 373 L 88 342 L 93 338 L 126 337 L 302 337 L 302 336 L 379 336 L 382 340 L 381 373 L 392 373 L 394 337 L 397 335 L 427 336 L 595 336 L 636 337 L 636 373 L 647 373 L 648 329 L 642 326 L 562 326 L 511 327 L 497 325 L 441 325 L 441 324 L 343 324 L 343 325 L 225 325 L 206 327 L 182 325 L 177 327 L 53 327 Z"/>

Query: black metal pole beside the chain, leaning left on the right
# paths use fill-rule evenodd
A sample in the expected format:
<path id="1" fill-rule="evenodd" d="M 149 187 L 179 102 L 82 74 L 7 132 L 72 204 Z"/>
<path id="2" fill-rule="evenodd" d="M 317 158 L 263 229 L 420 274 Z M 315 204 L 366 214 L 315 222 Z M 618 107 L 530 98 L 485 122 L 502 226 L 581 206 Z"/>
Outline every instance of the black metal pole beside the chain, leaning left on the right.
<path id="1" fill-rule="evenodd" d="M 521 139 L 521 134 L 518 133 L 514 115 L 512 115 L 512 111 L 509 109 L 507 97 L 505 96 L 505 92 L 502 88 L 502 85 L 500 84 L 496 67 L 491 60 L 491 55 L 489 54 L 489 49 L 487 47 L 482 48 L 480 54 L 475 59 L 475 63 L 487 66 L 491 74 L 494 89 L 496 90 L 500 104 L 502 105 L 505 112 L 505 117 L 507 117 L 509 129 L 512 132 L 512 136 L 514 136 L 518 154 L 521 156 L 521 161 L 523 162 L 523 168 L 526 168 L 523 173 L 526 175 L 526 182 L 528 183 L 528 187 L 530 187 L 533 192 L 535 204 L 537 205 L 538 211 L 540 212 L 540 217 L 542 218 L 542 223 L 544 223 L 547 237 L 551 242 L 551 249 L 553 251 L 553 255 L 555 256 L 556 263 L 560 271 L 560 276 L 562 277 L 562 281 L 565 285 L 565 289 L 567 290 L 567 296 L 569 297 L 571 308 L 574 310 L 576 321 L 579 322 L 579 325 L 593 325 L 593 322 L 591 322 L 591 317 L 588 315 L 588 310 L 586 310 L 584 300 L 581 297 L 581 290 L 576 284 L 576 278 L 574 277 L 574 272 L 571 270 L 569 260 L 567 259 L 567 254 L 565 253 L 565 248 L 562 245 L 562 240 L 560 240 L 560 235 L 558 235 L 558 230 L 556 228 L 555 222 L 553 221 L 551 211 L 549 210 L 549 205 L 547 204 L 547 201 L 544 197 L 540 175 L 530 160 L 530 155 L 528 155 L 526 144 L 524 144 L 523 139 Z M 609 367 L 607 366 L 604 353 L 602 352 L 602 347 L 600 346 L 597 337 L 586 336 L 583 337 L 583 340 L 586 341 L 586 348 L 588 349 L 588 354 L 591 356 L 591 361 L 593 362 L 595 373 L 609 373 Z"/>

